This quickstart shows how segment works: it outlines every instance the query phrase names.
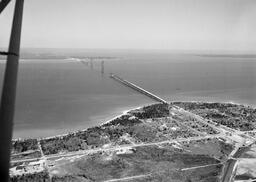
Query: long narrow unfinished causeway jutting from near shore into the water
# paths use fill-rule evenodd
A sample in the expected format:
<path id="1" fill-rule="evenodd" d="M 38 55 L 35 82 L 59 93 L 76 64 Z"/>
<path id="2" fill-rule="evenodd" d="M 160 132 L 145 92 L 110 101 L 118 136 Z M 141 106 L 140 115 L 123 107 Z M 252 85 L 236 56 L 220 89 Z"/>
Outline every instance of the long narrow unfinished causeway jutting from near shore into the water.
<path id="1" fill-rule="evenodd" d="M 167 101 L 165 101 L 164 99 L 158 97 L 157 95 L 155 95 L 155 94 L 153 94 L 153 93 L 151 93 L 151 92 L 149 92 L 149 91 L 147 91 L 147 90 L 145 90 L 145 89 L 143 89 L 143 88 L 141 88 L 141 87 L 135 85 L 134 83 L 131 83 L 131 82 L 127 81 L 127 80 L 124 80 L 124 79 L 120 78 L 119 76 L 117 76 L 117 75 L 115 75 L 115 74 L 112 74 L 112 73 L 111 73 L 111 74 L 110 74 L 110 78 L 112 78 L 112 79 L 118 81 L 119 83 L 124 84 L 125 86 L 128 86 L 128 87 L 130 87 L 130 88 L 136 90 L 137 92 L 140 92 L 140 93 L 142 93 L 142 94 L 148 96 L 149 98 L 151 98 L 151 99 L 153 99 L 153 100 L 155 100 L 155 101 L 157 101 L 157 102 L 161 102 L 161 103 L 163 103 L 163 104 L 168 104 Z"/>

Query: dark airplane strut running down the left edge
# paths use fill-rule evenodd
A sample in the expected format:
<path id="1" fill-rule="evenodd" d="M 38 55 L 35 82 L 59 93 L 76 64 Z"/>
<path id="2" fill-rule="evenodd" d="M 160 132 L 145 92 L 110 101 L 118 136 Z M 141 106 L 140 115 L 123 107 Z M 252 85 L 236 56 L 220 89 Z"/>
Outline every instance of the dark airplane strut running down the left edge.
<path id="1" fill-rule="evenodd" d="M 0 2 L 0 13 L 10 0 Z M 9 182 L 10 154 L 12 145 L 13 118 L 15 111 L 15 96 L 19 65 L 20 37 L 24 0 L 16 0 L 12 30 L 5 66 L 2 97 L 0 103 L 0 179 Z"/>

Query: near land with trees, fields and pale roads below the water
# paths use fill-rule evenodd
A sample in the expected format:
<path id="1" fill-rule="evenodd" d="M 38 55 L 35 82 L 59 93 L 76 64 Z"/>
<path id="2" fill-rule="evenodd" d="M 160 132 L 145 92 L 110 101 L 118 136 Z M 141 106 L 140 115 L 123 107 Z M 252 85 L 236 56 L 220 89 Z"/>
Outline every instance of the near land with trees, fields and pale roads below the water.
<path id="1" fill-rule="evenodd" d="M 66 135 L 14 140 L 12 181 L 230 181 L 256 141 L 256 110 L 157 103 Z"/>

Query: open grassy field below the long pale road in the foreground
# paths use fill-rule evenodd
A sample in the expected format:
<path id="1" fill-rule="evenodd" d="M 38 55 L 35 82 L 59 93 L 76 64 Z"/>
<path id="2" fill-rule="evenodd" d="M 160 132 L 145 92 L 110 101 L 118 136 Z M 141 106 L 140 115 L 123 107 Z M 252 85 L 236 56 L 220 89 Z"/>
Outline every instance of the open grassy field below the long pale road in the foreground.
<path id="1" fill-rule="evenodd" d="M 144 146 L 133 148 L 123 154 L 97 153 L 74 160 L 69 165 L 56 165 L 51 172 L 54 173 L 56 181 L 75 181 L 78 178 L 105 181 L 137 175 L 146 176 L 130 181 L 218 181 L 222 169 L 219 159 L 224 159 L 229 152 L 226 149 L 220 154 L 218 150 L 224 151 L 227 147 L 215 139 L 198 143 L 197 148 L 194 146 L 195 143 L 183 144 L 183 150 L 172 146 Z M 203 146 L 206 151 L 203 151 Z M 218 146 L 216 150 L 213 150 L 214 146 Z M 195 152 L 197 149 L 200 150 Z M 181 171 L 183 168 L 211 164 L 219 165 Z"/>

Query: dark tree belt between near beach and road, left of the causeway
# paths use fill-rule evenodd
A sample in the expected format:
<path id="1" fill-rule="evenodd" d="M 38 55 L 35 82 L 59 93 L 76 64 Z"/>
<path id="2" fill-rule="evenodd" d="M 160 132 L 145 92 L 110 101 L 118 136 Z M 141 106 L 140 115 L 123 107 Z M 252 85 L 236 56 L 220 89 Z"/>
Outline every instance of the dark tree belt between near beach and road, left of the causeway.
<path id="1" fill-rule="evenodd" d="M 56 154 L 61 151 L 77 151 L 88 148 L 100 147 L 109 142 L 116 142 L 124 133 L 137 137 L 141 141 L 147 141 L 154 135 L 150 135 L 150 128 L 141 125 L 140 118 L 155 118 L 168 115 L 166 104 L 155 104 L 143 108 L 142 113 L 127 114 L 112 120 L 100 127 L 89 128 L 86 131 L 78 131 L 62 137 L 41 140 L 44 153 Z M 149 132 L 148 132 L 149 131 Z M 36 139 L 17 140 L 13 142 L 13 153 L 38 149 Z"/>

